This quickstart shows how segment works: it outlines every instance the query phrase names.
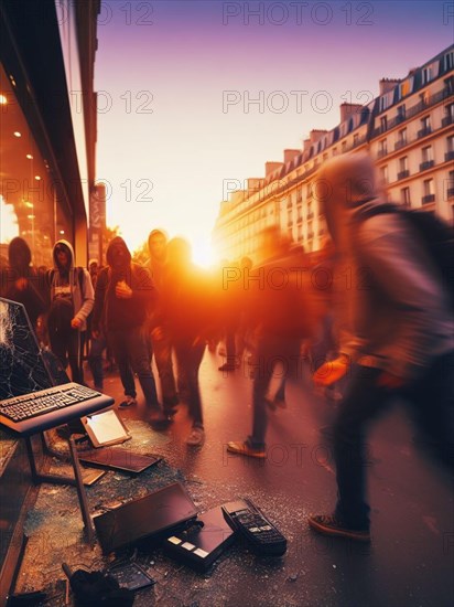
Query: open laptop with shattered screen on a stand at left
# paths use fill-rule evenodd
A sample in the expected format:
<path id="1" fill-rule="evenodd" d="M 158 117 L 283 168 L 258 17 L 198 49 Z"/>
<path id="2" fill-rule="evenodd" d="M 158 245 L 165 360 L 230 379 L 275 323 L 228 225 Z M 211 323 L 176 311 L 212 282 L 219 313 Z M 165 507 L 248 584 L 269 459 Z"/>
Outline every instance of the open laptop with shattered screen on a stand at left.
<path id="1" fill-rule="evenodd" d="M 0 424 L 30 436 L 114 404 L 75 382 L 55 384 L 24 306 L 0 298 Z"/>

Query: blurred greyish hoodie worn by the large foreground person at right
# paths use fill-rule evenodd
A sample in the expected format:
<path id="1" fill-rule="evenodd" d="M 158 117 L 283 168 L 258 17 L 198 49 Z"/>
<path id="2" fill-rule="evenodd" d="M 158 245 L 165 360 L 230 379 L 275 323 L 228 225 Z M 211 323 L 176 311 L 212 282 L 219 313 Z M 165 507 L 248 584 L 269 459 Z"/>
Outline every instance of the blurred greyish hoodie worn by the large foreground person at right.
<path id="1" fill-rule="evenodd" d="M 454 350 L 448 294 L 432 259 L 399 213 L 363 219 L 369 207 L 386 204 L 369 156 L 328 161 L 316 191 L 345 273 L 342 352 L 365 366 L 415 377 Z"/>

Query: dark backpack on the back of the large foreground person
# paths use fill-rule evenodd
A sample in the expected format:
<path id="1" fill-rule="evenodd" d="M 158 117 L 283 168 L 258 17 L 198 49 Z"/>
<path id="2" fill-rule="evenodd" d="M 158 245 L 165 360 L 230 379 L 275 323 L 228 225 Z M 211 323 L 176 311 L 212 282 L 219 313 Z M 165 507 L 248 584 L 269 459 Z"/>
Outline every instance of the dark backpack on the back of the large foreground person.
<path id="1" fill-rule="evenodd" d="M 441 281 L 454 303 L 454 228 L 439 215 L 420 209 L 401 209 L 397 204 L 382 204 L 367 210 L 359 215 L 360 220 L 399 213 L 411 224 L 423 243 L 426 253 L 437 268 Z"/>

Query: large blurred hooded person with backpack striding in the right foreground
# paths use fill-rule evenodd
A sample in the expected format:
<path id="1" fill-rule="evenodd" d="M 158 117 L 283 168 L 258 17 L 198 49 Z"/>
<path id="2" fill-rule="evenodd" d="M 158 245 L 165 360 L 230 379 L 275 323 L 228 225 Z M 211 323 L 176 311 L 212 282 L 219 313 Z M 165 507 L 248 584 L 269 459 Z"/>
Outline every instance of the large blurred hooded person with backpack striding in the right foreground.
<path id="1" fill-rule="evenodd" d="M 442 452 L 452 449 L 454 319 L 421 238 L 403 214 L 382 207 L 388 203 L 368 155 L 329 160 L 315 185 L 354 283 L 344 291 L 339 354 L 314 374 L 320 386 L 349 374 L 333 427 L 337 503 L 332 513 L 310 517 L 309 524 L 323 534 L 368 542 L 367 429 L 391 397 L 403 396 L 418 413 L 429 412 L 425 429 Z"/>

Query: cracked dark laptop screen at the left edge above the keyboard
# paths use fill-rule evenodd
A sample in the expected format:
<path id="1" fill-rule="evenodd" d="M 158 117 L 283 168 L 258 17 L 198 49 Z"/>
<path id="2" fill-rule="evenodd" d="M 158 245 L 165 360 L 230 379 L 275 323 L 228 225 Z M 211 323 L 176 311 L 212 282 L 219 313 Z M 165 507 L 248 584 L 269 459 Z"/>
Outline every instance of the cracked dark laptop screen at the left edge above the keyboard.
<path id="1" fill-rule="evenodd" d="M 0 298 L 0 401 L 52 385 L 25 308 Z"/>

